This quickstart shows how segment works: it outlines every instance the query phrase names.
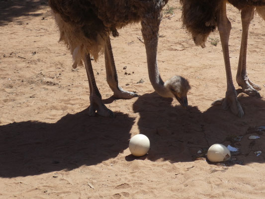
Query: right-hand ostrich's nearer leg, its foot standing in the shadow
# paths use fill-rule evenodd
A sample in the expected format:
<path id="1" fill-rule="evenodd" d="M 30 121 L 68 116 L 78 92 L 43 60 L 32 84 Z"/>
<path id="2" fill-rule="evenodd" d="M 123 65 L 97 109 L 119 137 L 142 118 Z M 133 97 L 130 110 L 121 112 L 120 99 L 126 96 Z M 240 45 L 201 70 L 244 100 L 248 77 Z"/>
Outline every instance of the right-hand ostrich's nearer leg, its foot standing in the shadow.
<path id="1" fill-rule="evenodd" d="M 231 23 L 226 16 L 226 0 L 223 0 L 223 2 L 221 2 L 221 7 L 217 14 L 217 24 L 218 24 L 217 26 L 220 34 L 223 55 L 224 55 L 226 79 L 227 79 L 227 91 L 224 100 L 217 100 L 212 104 L 215 105 L 222 102 L 222 107 L 224 109 L 230 108 L 230 110 L 235 115 L 237 115 L 238 117 L 243 117 L 244 111 L 237 99 L 237 92 L 232 80 L 232 73 L 231 73 L 231 66 L 229 59 L 229 48 L 228 48 Z"/>

